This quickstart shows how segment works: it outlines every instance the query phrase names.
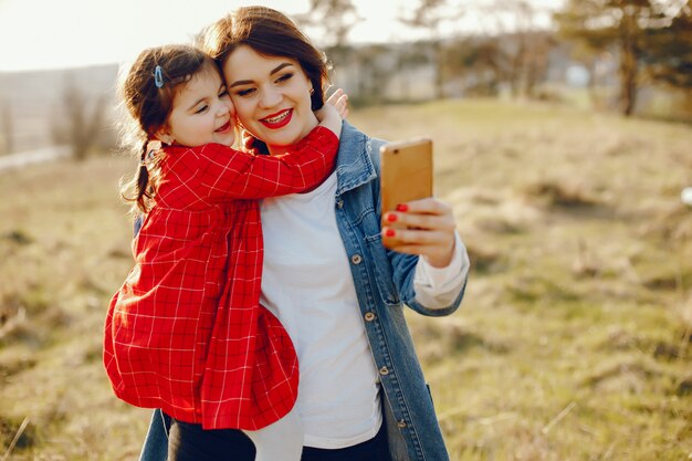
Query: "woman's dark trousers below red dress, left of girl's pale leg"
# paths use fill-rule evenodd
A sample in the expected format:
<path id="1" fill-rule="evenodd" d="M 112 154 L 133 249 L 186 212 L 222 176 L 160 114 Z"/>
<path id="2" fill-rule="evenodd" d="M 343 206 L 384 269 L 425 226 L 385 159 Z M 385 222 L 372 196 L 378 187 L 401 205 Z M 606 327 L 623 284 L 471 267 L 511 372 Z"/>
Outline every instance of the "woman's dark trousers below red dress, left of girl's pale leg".
<path id="1" fill-rule="evenodd" d="M 254 461 L 254 444 L 241 430 L 205 430 L 171 419 L 168 461 Z"/>

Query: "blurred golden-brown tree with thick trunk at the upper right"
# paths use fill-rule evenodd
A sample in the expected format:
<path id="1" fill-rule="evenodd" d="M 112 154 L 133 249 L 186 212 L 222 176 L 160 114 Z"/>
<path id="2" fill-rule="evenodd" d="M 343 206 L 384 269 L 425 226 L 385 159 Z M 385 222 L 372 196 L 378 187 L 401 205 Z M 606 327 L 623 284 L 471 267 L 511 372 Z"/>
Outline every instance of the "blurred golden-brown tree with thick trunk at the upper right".
<path id="1" fill-rule="evenodd" d="M 568 0 L 555 19 L 564 36 L 597 52 L 617 50 L 620 111 L 629 116 L 652 33 L 664 29 L 671 11 L 679 8 L 663 0 Z"/>

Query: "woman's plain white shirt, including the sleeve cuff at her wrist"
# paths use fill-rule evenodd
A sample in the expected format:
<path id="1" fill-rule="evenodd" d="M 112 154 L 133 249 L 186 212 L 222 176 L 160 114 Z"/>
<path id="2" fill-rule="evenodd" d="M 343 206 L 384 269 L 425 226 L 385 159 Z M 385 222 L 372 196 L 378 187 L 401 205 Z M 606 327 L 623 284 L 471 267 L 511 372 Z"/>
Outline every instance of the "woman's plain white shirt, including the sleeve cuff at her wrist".
<path id="1" fill-rule="evenodd" d="M 279 317 L 297 352 L 305 446 L 325 449 L 369 440 L 382 421 L 377 369 L 336 226 L 336 186 L 333 174 L 311 192 L 264 199 L 261 206 L 261 303 Z M 418 298 L 455 297 L 468 266 L 459 238 L 449 268 L 434 269 L 421 259 Z"/>

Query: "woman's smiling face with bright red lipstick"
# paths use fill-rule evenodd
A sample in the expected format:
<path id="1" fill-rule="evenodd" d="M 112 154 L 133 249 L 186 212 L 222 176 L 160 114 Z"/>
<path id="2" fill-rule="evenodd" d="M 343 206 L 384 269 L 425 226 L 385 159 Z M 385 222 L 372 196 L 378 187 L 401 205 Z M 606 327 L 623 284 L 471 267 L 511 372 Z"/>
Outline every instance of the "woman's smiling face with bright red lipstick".
<path id="1" fill-rule="evenodd" d="M 240 123 L 271 154 L 286 151 L 317 126 L 313 85 L 297 61 L 240 45 L 223 64 L 223 75 Z"/>

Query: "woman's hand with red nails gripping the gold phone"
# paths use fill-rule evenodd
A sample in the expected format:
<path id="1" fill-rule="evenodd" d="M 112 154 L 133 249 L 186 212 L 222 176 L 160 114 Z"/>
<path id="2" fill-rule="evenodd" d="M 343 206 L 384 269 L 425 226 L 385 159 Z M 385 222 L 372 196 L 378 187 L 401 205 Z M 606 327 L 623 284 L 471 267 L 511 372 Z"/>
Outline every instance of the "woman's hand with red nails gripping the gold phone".
<path id="1" fill-rule="evenodd" d="M 454 253 L 455 229 L 450 206 L 433 198 L 410 201 L 382 214 L 382 244 L 421 255 L 433 268 L 445 268 Z"/>

